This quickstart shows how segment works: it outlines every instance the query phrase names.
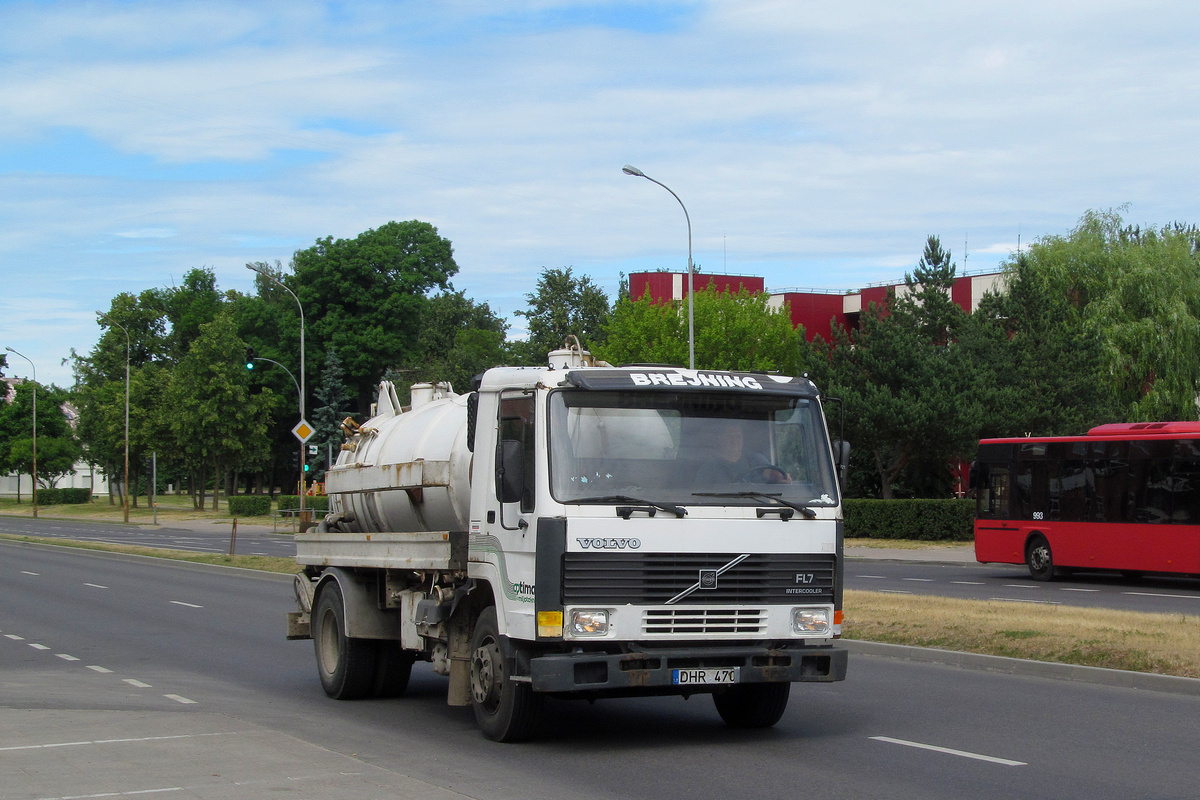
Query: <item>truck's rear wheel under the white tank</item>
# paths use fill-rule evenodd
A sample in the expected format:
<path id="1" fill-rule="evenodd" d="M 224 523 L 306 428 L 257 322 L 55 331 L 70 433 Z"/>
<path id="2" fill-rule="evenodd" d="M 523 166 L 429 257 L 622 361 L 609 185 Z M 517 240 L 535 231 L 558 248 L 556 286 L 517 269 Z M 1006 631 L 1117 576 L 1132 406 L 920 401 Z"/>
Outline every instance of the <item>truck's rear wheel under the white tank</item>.
<path id="1" fill-rule="evenodd" d="M 312 643 L 317 674 L 326 694 L 335 700 L 356 700 L 372 693 L 379 643 L 346 636 L 346 600 L 336 581 L 326 583 L 317 597 Z"/>

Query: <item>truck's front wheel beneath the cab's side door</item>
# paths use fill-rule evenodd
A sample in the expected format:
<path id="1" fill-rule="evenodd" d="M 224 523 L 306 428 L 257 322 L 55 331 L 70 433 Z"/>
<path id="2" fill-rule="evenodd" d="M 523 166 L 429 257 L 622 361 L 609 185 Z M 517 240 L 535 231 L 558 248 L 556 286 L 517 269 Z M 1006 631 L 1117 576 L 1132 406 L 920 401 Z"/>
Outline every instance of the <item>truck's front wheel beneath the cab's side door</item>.
<path id="1" fill-rule="evenodd" d="M 475 620 L 470 637 L 470 706 L 475 723 L 492 741 L 523 741 L 538 727 L 544 698 L 534 694 L 529 684 L 511 680 L 496 607 L 488 607 Z"/>

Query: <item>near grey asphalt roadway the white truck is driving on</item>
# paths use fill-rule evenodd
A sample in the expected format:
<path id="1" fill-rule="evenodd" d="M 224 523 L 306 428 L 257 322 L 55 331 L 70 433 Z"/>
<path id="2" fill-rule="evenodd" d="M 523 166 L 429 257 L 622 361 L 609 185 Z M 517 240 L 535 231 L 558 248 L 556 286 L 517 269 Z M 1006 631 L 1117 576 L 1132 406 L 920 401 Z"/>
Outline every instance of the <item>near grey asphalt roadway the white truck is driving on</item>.
<path id="1" fill-rule="evenodd" d="M 497 745 L 444 703 L 337 703 L 282 576 L 0 542 L 5 798 L 1195 796 L 1200 697 L 856 656 L 779 726 L 706 697 L 553 703 Z M 115 796 L 122 796 L 115 794 Z M 134 795 L 140 796 L 140 795 Z"/>

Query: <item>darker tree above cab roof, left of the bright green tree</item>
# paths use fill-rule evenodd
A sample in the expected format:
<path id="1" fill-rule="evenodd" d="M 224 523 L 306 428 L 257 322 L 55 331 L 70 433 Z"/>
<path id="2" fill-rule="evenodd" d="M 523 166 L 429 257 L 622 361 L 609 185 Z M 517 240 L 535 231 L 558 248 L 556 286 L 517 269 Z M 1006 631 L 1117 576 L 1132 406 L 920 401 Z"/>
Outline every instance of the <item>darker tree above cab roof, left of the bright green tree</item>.
<path id="1" fill-rule="evenodd" d="M 572 269 L 545 269 L 536 288 L 526 295 L 527 311 L 516 312 L 528 323 L 529 337 L 512 343 L 518 363 L 546 363 L 546 354 L 576 336 L 586 350 L 596 350 L 605 341 L 605 326 L 612 314 L 608 296 L 586 275 Z"/>

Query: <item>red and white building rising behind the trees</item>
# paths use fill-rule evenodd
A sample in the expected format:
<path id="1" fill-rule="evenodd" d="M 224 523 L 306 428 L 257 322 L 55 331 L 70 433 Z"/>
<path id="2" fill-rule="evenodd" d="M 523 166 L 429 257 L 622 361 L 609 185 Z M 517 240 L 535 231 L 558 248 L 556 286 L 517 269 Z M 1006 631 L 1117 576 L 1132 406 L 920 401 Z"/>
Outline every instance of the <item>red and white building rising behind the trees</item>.
<path id="1" fill-rule="evenodd" d="M 766 291 L 763 278 L 742 275 L 696 273 L 692 277 L 696 291 L 716 285 L 720 291 Z M 966 312 L 979 307 L 979 301 L 988 291 L 998 291 L 1003 287 L 1003 272 L 982 275 L 964 275 L 955 278 L 950 297 Z M 792 325 L 803 325 L 804 336 L 810 342 L 816 335 L 826 341 L 833 337 L 833 323 L 836 320 L 844 327 L 857 327 L 859 315 L 870 303 L 883 305 L 888 289 L 895 289 L 896 295 L 904 295 L 908 287 L 904 282 L 865 287 L 844 294 L 812 289 L 784 289 L 773 291 L 768 301 L 772 307 L 787 306 Z M 649 294 L 655 301 L 683 300 L 688 296 L 686 272 L 632 272 L 629 276 L 629 293 L 634 300 L 641 300 Z"/>

